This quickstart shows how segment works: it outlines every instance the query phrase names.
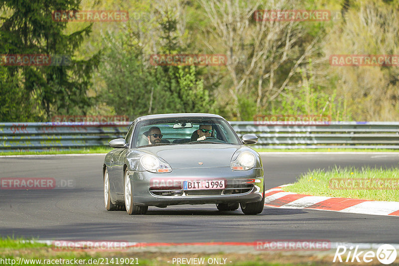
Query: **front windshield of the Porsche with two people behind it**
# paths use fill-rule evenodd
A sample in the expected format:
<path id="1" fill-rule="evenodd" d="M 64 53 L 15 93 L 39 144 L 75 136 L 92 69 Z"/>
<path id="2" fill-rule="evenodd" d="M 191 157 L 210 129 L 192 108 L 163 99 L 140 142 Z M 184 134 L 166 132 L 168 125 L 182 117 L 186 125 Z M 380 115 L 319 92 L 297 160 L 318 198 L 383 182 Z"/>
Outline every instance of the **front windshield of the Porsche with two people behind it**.
<path id="1" fill-rule="evenodd" d="M 133 136 L 136 147 L 201 143 L 241 144 L 241 141 L 228 122 L 219 118 L 145 120 L 137 124 Z"/>

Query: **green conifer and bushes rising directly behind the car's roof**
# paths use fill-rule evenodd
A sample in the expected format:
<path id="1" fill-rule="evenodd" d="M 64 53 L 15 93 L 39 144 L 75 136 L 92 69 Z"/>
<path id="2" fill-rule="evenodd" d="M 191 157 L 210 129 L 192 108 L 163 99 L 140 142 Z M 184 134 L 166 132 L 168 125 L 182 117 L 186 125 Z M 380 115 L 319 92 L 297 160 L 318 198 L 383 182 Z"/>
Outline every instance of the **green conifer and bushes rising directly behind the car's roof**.
<path id="1" fill-rule="evenodd" d="M 176 20 L 168 13 L 160 22 L 163 52 L 179 53 Z M 153 66 L 148 64 L 135 29 L 115 39 L 107 36 L 107 51 L 100 67 L 106 88 L 100 99 L 116 114 L 130 119 L 147 114 L 212 112 L 214 101 L 204 88 L 195 66 Z"/>

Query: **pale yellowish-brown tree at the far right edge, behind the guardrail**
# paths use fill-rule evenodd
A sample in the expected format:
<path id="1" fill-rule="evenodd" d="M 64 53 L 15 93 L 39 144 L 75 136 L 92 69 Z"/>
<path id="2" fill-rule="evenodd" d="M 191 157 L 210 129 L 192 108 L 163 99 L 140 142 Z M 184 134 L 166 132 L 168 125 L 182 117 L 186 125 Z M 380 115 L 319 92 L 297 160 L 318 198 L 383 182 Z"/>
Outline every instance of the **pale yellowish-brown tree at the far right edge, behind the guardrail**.
<path id="1" fill-rule="evenodd" d="M 328 55 L 398 55 L 398 2 L 346 1 L 343 19 L 328 32 Z M 398 121 L 397 66 L 332 66 L 337 94 L 344 99 L 344 116 L 358 121 Z"/>

